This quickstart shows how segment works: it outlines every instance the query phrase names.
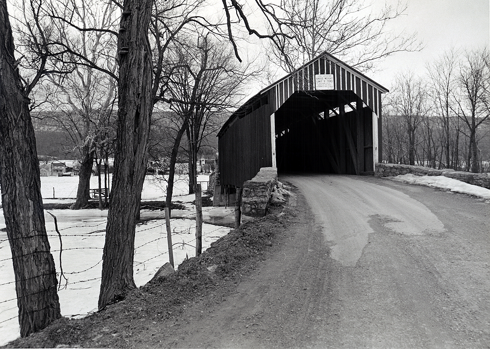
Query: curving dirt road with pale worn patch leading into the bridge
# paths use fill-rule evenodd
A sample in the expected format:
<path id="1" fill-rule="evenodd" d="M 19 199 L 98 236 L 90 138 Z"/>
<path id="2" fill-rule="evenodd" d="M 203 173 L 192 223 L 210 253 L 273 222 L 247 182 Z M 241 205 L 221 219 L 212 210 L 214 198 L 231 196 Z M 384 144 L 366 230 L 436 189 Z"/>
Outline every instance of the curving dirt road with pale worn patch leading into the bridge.
<path id="1" fill-rule="evenodd" d="M 301 193 L 291 227 L 164 347 L 490 347 L 489 203 L 376 177 L 280 180 Z"/>

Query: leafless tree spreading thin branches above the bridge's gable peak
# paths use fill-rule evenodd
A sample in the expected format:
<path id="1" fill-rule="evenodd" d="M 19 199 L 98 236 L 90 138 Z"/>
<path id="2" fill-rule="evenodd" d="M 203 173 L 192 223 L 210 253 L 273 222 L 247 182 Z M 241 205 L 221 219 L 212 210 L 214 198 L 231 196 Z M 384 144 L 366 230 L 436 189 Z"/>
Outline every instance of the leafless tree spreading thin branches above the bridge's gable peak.
<path id="1" fill-rule="evenodd" d="M 288 73 L 325 51 L 367 71 L 395 52 L 421 49 L 415 34 L 392 35 L 387 28 L 406 10 L 400 3 L 379 12 L 372 10 L 373 2 L 360 0 L 283 0 L 278 7 L 287 35 L 268 51 Z"/>

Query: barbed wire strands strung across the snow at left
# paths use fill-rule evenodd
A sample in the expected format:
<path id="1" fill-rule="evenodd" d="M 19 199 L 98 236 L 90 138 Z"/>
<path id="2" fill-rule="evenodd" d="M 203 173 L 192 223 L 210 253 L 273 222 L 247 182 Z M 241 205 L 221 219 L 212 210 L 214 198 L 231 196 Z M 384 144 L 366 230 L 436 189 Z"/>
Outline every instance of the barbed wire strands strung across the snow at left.
<path id="1" fill-rule="evenodd" d="M 222 207 L 213 207 L 211 209 L 208 209 L 207 212 L 210 212 L 210 211 L 213 211 L 213 210 L 219 210 L 219 209 L 222 209 Z M 90 270 L 98 267 L 98 265 L 100 265 L 102 263 L 102 259 L 98 260 L 95 264 L 91 265 L 90 267 L 88 268 L 85 268 L 83 270 L 80 270 L 80 271 L 70 271 L 70 272 L 67 272 L 67 271 L 63 271 L 62 269 L 62 261 L 63 261 L 63 252 L 65 251 L 70 251 L 70 250 L 101 250 L 103 249 L 102 247 L 71 247 L 71 248 L 62 248 L 62 244 L 63 244 L 63 241 L 62 239 L 64 238 L 69 238 L 69 237 L 83 237 L 83 238 L 100 238 L 100 237 L 104 237 L 105 236 L 105 229 L 97 229 L 97 230 L 93 230 L 93 231 L 90 231 L 90 232 L 87 232 L 85 234 L 62 234 L 61 232 L 62 231 L 66 231 L 66 230 L 69 230 L 69 229 L 73 229 L 73 228 L 87 228 L 87 227 L 93 227 L 93 228 L 97 228 L 101 225 L 104 225 L 106 224 L 106 222 L 102 222 L 102 223 L 98 223 L 98 224 L 94 224 L 94 225 L 72 225 L 72 226 L 67 226 L 67 227 L 63 227 L 63 228 L 59 228 L 58 227 L 58 221 L 57 221 L 57 218 L 52 215 L 49 211 L 47 211 L 51 216 L 53 216 L 53 219 L 55 221 L 54 225 L 55 225 L 55 230 L 48 230 L 48 237 L 58 237 L 59 238 L 59 244 L 60 244 L 60 248 L 59 249 L 51 249 L 50 252 L 53 253 L 53 252 L 59 252 L 59 259 L 57 260 L 57 262 L 59 263 L 59 272 L 57 272 L 57 276 L 59 277 L 59 282 L 58 282 L 58 290 L 64 290 L 64 289 L 68 289 L 68 286 L 70 285 L 75 285 L 75 284 L 80 284 L 80 283 L 84 283 L 84 282 L 89 282 L 89 281 L 96 281 L 96 280 L 100 280 L 101 277 L 95 277 L 95 278 L 88 278 L 88 279 L 81 279 L 81 280 L 77 280 L 77 281 L 69 281 L 69 276 L 70 275 L 75 275 L 75 274 L 83 274 L 83 273 L 86 273 L 86 272 L 89 272 Z M 224 216 L 222 216 L 221 218 L 219 219 L 216 219 L 213 221 L 213 223 L 206 223 L 206 224 L 211 224 L 211 225 L 215 225 L 217 226 L 216 228 L 214 228 L 213 230 L 211 231 L 208 231 L 206 233 L 203 233 L 202 236 L 208 236 L 217 232 L 218 230 L 222 230 L 222 229 L 231 229 L 231 227 L 228 227 L 228 226 L 224 226 L 224 225 L 219 225 L 218 223 L 220 223 L 220 221 L 224 221 L 226 219 L 228 219 L 229 216 L 234 216 L 235 215 L 235 212 L 232 211 Z M 190 214 L 188 215 L 184 215 L 184 216 L 178 216 L 178 217 L 174 217 L 172 218 L 172 221 L 176 221 L 176 220 L 181 220 L 181 219 L 189 219 L 189 220 L 192 220 L 194 221 L 195 220 L 195 216 L 196 216 L 196 212 L 191 212 Z M 137 230 L 136 230 L 136 234 L 139 234 L 139 233 L 142 233 L 144 231 L 148 231 L 148 230 L 154 230 L 154 229 L 157 229 L 158 227 L 164 227 L 166 225 L 165 223 L 165 214 L 161 214 L 161 215 L 158 215 L 154 218 L 151 218 L 149 221 L 158 221 L 158 220 L 163 220 L 163 223 L 162 224 L 156 224 L 156 225 L 151 225 L 150 227 L 147 227 L 147 228 L 144 228 L 144 229 L 138 229 L 138 226 L 142 226 L 143 224 L 147 224 L 148 222 L 144 222 L 143 224 L 139 224 L 137 225 Z M 179 236 L 179 235 L 182 235 L 182 234 L 185 234 L 185 235 L 189 235 L 190 234 L 190 231 L 192 229 L 192 226 L 188 226 L 182 230 L 179 230 L 179 231 L 176 231 L 175 228 L 173 229 L 172 231 L 172 235 L 176 235 L 176 236 Z M 149 244 L 152 244 L 152 243 L 156 243 L 158 244 L 158 242 L 160 240 L 165 240 L 165 243 L 167 243 L 167 234 L 163 234 L 163 233 L 160 233 L 159 234 L 160 236 L 158 238 L 155 238 L 153 240 L 150 240 L 150 241 L 147 241 L 137 247 L 134 248 L 134 251 L 136 253 L 136 251 L 138 249 L 141 249 L 143 248 L 144 246 L 147 246 Z M 219 238 L 219 236 L 216 236 L 217 238 Z M 22 239 L 22 238 L 19 238 L 19 239 Z M 196 242 L 196 238 L 194 239 L 191 239 L 191 240 L 182 240 L 181 242 L 175 242 L 172 244 L 172 250 L 178 250 L 178 249 L 184 249 L 185 246 L 188 246 L 190 248 L 193 248 L 195 249 L 195 245 L 192 245 L 194 242 Z M 6 244 L 8 243 L 8 239 L 0 239 L 0 248 L 1 247 L 4 247 L 2 246 L 3 244 Z M 10 250 L 10 249 L 8 249 Z M 159 252 L 158 254 L 155 254 L 155 255 L 152 255 L 152 256 L 149 256 L 149 258 L 147 258 L 146 260 L 144 261 L 134 261 L 134 267 L 137 267 L 139 265 L 145 265 L 145 263 L 153 260 L 153 259 L 156 259 L 156 258 L 161 258 L 165 255 L 168 255 L 169 254 L 169 250 L 165 250 L 163 252 Z M 3 258 L 3 259 L 0 259 L 0 263 L 3 263 L 3 262 L 6 262 L 8 260 L 12 260 L 13 258 L 21 258 L 21 257 L 24 257 L 25 255 L 18 255 L 18 256 L 15 256 L 15 257 L 9 257 L 9 258 Z M 56 259 L 55 259 L 56 260 Z M 182 261 L 181 261 L 182 262 Z M 40 275 L 36 275 L 36 276 L 32 276 L 32 277 L 29 277 L 28 279 L 32 279 L 32 278 L 37 278 L 37 277 L 42 277 L 42 276 L 46 276 L 46 274 L 40 274 Z M 67 277 L 68 276 L 68 277 Z M 63 288 L 61 289 L 61 278 L 64 277 L 64 280 L 65 280 L 65 285 L 63 286 Z M 25 279 L 25 280 L 19 280 L 19 281 L 26 281 L 28 279 Z M 7 281 L 7 282 L 3 282 L 3 283 L 0 283 L 0 287 L 1 286 L 5 286 L 5 285 L 9 285 L 9 284 L 15 284 L 15 280 L 14 281 Z M 33 294 L 29 294 L 29 295 L 24 295 L 23 297 L 29 297 L 29 296 L 33 296 L 37 293 L 40 293 L 40 292 L 43 292 L 43 291 L 38 291 L 36 293 L 33 293 Z M 0 305 L 1 304 L 5 304 L 5 303 L 9 303 L 9 302 L 14 302 L 14 301 L 17 301 L 17 297 L 15 298 L 12 298 L 12 299 L 5 299 L 5 300 L 0 300 Z M 2 312 L 5 312 L 5 311 L 9 311 L 9 310 L 13 310 L 13 309 L 16 309 L 17 308 L 17 304 L 11 306 L 11 307 L 8 307 L 8 308 L 3 308 L 0 310 L 0 314 Z M 2 320 L 0 321 L 0 325 L 3 324 L 3 323 L 6 323 L 8 321 L 11 321 L 13 319 L 16 319 L 18 317 L 18 315 L 14 316 L 14 317 L 11 317 L 9 319 L 5 319 L 5 320 Z"/>

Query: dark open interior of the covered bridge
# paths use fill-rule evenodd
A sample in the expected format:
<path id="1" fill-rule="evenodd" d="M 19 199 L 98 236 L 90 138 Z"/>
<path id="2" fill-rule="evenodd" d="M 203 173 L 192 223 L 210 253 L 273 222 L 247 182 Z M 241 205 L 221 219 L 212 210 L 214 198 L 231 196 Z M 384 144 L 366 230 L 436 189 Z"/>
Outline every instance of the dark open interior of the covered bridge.
<path id="1" fill-rule="evenodd" d="M 353 91 L 297 91 L 275 112 L 279 172 L 373 169 L 372 111 Z"/>

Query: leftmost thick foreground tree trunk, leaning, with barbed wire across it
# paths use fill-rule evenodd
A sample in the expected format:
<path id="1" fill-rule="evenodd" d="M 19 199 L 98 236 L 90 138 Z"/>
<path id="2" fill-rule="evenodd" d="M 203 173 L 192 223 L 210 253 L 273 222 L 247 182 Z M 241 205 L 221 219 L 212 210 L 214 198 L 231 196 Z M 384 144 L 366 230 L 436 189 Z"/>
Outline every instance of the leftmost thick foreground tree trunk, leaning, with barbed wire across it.
<path id="1" fill-rule="evenodd" d="M 34 129 L 15 67 L 7 5 L 0 0 L 0 177 L 12 251 L 21 336 L 61 317 L 56 269 L 44 222 Z"/>

